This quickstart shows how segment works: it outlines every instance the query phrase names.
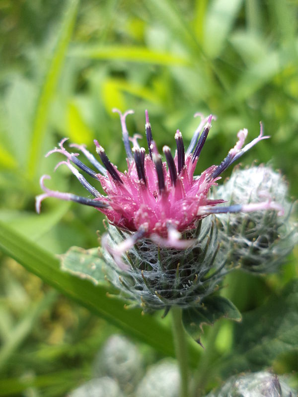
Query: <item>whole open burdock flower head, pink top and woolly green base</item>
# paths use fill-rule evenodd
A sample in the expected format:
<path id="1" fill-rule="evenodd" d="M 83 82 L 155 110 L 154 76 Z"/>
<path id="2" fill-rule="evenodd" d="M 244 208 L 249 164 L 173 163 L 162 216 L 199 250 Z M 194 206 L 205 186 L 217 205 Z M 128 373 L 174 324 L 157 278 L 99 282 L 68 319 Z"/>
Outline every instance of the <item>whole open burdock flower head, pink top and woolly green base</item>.
<path id="1" fill-rule="evenodd" d="M 126 116 L 133 111 L 124 114 L 116 109 L 114 111 L 120 115 L 127 171 L 120 172 L 110 162 L 97 140 L 94 140 L 96 152 L 103 165 L 85 146 L 70 145 L 83 153 L 94 170 L 78 159 L 78 153 L 67 151 L 64 147 L 66 139 L 63 139 L 59 148 L 51 150 L 47 156 L 52 153 L 66 156 L 67 160 L 58 166 L 67 165 L 93 198 L 49 190 L 44 181 L 50 177 L 44 175 L 40 184 L 45 193 L 36 199 L 37 212 L 41 201 L 47 197 L 93 206 L 104 213 L 109 221 L 109 236 L 102 239 L 102 245 L 106 249 L 103 251 L 106 262 L 114 269 L 115 277 L 110 276 L 114 284 L 125 290 L 132 299 L 137 299 L 146 309 L 173 304 L 182 307 L 198 304 L 200 299 L 214 291 L 224 266 L 224 259 L 220 258 L 217 261 L 219 265 L 210 271 L 219 246 L 212 219 L 207 215 L 269 208 L 281 211 L 281 207 L 270 199 L 256 204 L 220 206 L 218 204 L 223 199 L 209 198 L 210 189 L 217 184 L 222 172 L 268 136 L 263 136 L 261 126 L 259 136 L 243 146 L 247 130 L 239 131 L 237 143 L 222 163 L 212 165 L 201 175 L 194 176 L 211 128 L 212 115 L 202 119 L 186 151 L 182 134 L 177 130 L 175 155 L 173 157 L 170 148 L 164 146 L 166 162 L 163 162 L 153 141 L 148 112 L 146 154 L 145 148 L 138 144 L 140 136 L 129 137 L 126 128 Z M 74 166 L 99 182 L 103 194 L 90 185 Z"/>

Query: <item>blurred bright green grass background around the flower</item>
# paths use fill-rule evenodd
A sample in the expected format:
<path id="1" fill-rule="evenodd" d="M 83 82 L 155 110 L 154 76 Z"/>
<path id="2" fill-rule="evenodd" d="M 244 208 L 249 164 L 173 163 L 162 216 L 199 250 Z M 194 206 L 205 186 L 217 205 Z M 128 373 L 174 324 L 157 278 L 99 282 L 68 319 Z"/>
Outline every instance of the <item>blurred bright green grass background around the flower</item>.
<path id="1" fill-rule="evenodd" d="M 37 216 L 34 196 L 40 193 L 40 175 L 53 175 L 59 161 L 44 154 L 64 136 L 91 150 L 98 139 L 111 161 L 125 169 L 113 107 L 134 109 L 128 128 L 143 136 L 147 108 L 160 148 L 174 147 L 178 128 L 189 142 L 197 126 L 194 113 L 217 115 L 198 172 L 220 163 L 239 129 L 255 137 L 262 120 L 272 137 L 242 163 L 269 161 L 297 197 L 297 14 L 297 2 L 286 0 L 2 0 L 0 220 L 54 254 L 72 245 L 96 246 L 96 230 L 103 230 L 100 214 L 48 199 Z M 56 174 L 49 186 L 83 194 L 67 169 Z M 238 276 L 231 276 L 227 294 L 241 310 L 257 306 L 272 289 L 297 277 L 297 257 L 296 251 L 281 276 L 242 276 L 245 295 L 237 289 Z M 30 393 L 63 396 L 79 381 L 76 369 L 88 377 L 94 346 L 111 327 L 53 295 L 4 256 L 0 279 L 1 379 L 61 371 Z M 297 367 L 296 362 L 291 370 Z"/>

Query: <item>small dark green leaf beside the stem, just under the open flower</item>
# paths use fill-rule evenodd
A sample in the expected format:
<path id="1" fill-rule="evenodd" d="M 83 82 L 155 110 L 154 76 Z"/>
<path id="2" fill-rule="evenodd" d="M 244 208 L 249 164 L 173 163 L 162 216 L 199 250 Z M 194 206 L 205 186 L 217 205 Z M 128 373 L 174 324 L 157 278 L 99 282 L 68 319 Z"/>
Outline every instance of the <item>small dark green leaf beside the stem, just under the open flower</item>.
<path id="1" fill-rule="evenodd" d="M 200 334 L 204 324 L 213 325 L 217 320 L 226 318 L 234 321 L 241 320 L 238 309 L 228 299 L 214 295 L 203 300 L 197 308 L 183 310 L 183 325 L 186 331 L 200 342 Z"/>

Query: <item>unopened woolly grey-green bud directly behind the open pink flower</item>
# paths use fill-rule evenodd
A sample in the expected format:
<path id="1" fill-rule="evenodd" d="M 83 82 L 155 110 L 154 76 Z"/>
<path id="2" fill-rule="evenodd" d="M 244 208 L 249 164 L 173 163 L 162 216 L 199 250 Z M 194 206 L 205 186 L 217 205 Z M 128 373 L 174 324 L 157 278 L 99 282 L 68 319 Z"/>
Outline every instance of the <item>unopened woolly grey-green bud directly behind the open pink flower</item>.
<path id="1" fill-rule="evenodd" d="M 228 200 L 229 205 L 271 198 L 284 208 L 282 216 L 270 209 L 218 216 L 219 238 L 231 262 L 251 272 L 277 270 L 298 241 L 297 224 L 291 218 L 294 205 L 288 200 L 288 185 L 281 174 L 263 165 L 235 169 L 215 191 L 217 197 Z"/>

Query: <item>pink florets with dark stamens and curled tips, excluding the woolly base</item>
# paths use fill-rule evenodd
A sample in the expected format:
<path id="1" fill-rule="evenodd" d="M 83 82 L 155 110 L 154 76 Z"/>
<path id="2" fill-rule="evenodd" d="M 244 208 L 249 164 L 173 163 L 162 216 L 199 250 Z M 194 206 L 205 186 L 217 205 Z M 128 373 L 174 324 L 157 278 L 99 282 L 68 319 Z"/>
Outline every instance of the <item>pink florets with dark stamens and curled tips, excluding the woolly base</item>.
<path id="1" fill-rule="evenodd" d="M 45 179 L 50 177 L 44 175 L 40 184 L 45 193 L 36 199 L 37 212 L 40 211 L 41 201 L 47 197 L 77 201 L 91 205 L 104 213 L 110 224 L 118 229 L 134 233 L 131 244 L 134 244 L 140 237 L 152 237 L 161 245 L 183 249 L 190 244 L 190 241 L 180 240 L 181 233 L 195 229 L 200 219 L 222 211 L 241 211 L 241 205 L 218 206 L 224 200 L 210 199 L 209 192 L 230 164 L 254 144 L 268 138 L 268 136 L 263 136 L 262 127 L 259 136 L 244 147 L 247 130 L 238 132 L 238 141 L 228 152 L 224 161 L 218 166 L 212 165 L 200 176 L 194 176 L 201 150 L 211 129 L 212 115 L 202 118 L 186 152 L 182 133 L 177 130 L 176 152 L 173 156 L 170 148 L 164 146 L 162 150 L 166 161 L 162 161 L 162 156 L 152 137 L 148 112 L 146 111 L 146 137 L 149 153 L 146 154 L 145 148 L 138 144 L 139 135 L 130 138 L 126 128 L 125 119 L 133 111 L 130 110 L 124 114 L 117 109 L 114 111 L 120 115 L 127 153 L 127 171 L 120 172 L 111 163 L 97 140 L 94 140 L 94 143 L 102 165 L 86 150 L 85 146 L 70 145 L 82 152 L 95 168 L 94 170 L 79 160 L 78 153 L 68 152 L 64 148 L 66 139 L 63 139 L 59 148 L 51 150 L 47 156 L 55 152 L 65 155 L 67 160 L 60 162 L 58 166 L 67 165 L 93 198 L 51 191 L 44 184 Z M 200 134 L 201 130 L 203 131 Z M 95 182 L 99 182 L 104 194 L 100 194 L 95 187 L 90 185 L 74 166 L 93 177 Z M 268 205 L 272 204 L 264 203 L 264 207 Z M 245 210 L 250 210 L 249 206 L 246 206 Z M 123 248 L 127 249 L 127 247 L 126 244 Z"/>

